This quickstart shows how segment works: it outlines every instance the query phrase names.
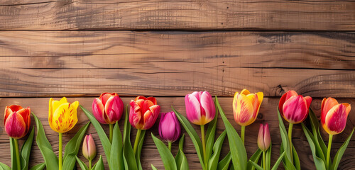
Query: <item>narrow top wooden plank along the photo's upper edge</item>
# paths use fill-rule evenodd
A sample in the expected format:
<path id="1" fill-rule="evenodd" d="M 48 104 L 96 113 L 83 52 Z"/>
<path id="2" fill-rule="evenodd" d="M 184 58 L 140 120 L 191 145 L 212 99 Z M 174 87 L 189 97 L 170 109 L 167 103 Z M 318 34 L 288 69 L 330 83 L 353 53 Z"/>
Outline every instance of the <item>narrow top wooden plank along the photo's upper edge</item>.
<path id="1" fill-rule="evenodd" d="M 345 1 L 1 1 L 0 30 L 354 30 Z"/>

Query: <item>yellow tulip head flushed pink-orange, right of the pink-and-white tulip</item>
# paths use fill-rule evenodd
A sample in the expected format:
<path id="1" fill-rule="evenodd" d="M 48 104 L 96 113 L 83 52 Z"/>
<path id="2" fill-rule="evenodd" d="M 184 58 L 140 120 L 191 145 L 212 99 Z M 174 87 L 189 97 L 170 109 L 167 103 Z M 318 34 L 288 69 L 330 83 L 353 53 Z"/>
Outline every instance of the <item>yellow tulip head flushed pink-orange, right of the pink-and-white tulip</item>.
<path id="1" fill-rule="evenodd" d="M 253 123 L 258 116 L 261 102 L 263 102 L 263 92 L 251 94 L 244 89 L 239 94 L 236 92 L 233 98 L 234 120 L 241 126 Z"/>

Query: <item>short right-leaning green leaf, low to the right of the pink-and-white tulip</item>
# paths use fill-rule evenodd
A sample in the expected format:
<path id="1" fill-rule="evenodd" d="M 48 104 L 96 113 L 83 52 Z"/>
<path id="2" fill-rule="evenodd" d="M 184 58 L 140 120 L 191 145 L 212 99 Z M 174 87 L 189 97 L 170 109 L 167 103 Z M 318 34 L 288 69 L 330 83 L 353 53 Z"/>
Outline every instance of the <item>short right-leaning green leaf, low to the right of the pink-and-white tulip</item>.
<path id="1" fill-rule="evenodd" d="M 217 116 L 216 116 L 217 117 Z M 212 157 L 209 158 L 208 169 L 217 169 L 219 154 L 221 154 L 221 149 L 223 145 L 224 138 L 226 137 L 226 130 L 224 130 L 221 135 L 217 138 L 216 142 L 213 145 L 213 154 Z"/>

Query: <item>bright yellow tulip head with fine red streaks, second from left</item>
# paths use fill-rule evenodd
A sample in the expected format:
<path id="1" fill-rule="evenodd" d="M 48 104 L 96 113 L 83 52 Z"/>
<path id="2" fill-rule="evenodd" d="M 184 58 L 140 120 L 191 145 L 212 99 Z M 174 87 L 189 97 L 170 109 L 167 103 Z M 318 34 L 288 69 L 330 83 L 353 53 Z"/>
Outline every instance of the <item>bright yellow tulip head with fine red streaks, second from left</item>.
<path id="1" fill-rule="evenodd" d="M 78 101 L 68 103 L 65 97 L 60 101 L 50 98 L 48 115 L 50 128 L 59 133 L 71 130 L 77 124 L 77 106 Z"/>

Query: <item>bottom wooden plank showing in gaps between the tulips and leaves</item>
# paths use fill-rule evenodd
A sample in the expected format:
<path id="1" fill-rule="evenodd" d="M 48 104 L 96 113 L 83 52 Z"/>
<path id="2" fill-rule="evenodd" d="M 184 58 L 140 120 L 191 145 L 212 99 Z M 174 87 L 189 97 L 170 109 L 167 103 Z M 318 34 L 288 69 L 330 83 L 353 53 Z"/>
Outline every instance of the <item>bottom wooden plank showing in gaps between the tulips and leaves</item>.
<path id="1" fill-rule="evenodd" d="M 91 106 L 92 106 L 92 101 L 94 98 L 69 98 L 69 101 L 80 101 L 80 104 L 84 106 L 85 108 L 88 108 L 89 111 L 91 111 Z M 129 103 L 129 101 L 132 98 L 123 98 L 124 103 Z M 45 132 L 48 136 L 48 139 L 50 140 L 50 143 L 53 145 L 53 148 L 55 149 L 55 153 L 58 154 L 58 135 L 56 132 L 50 129 L 48 125 L 48 100 L 49 98 L 1 98 L 0 99 L 0 108 L 4 108 L 5 106 L 11 105 L 11 104 L 20 104 L 22 106 L 31 106 L 31 111 L 35 113 L 38 118 L 43 123 L 43 126 L 45 128 Z M 168 112 L 171 111 L 170 106 L 174 106 L 180 113 L 185 115 L 185 105 L 184 105 L 184 98 L 182 97 L 176 97 L 176 98 L 170 98 L 170 97 L 160 97 L 157 98 L 158 104 L 161 106 L 161 111 L 162 112 Z M 273 142 L 273 154 L 272 154 L 272 162 L 274 163 L 279 155 L 279 147 L 280 147 L 280 132 L 278 128 L 278 118 L 276 116 L 276 107 L 278 106 L 278 100 L 279 98 L 264 98 L 263 103 L 261 105 L 261 111 L 258 115 L 258 118 L 255 123 L 252 125 L 249 125 L 246 128 L 246 150 L 248 152 L 248 156 L 251 157 L 251 154 L 255 152 L 257 149 L 257 135 L 258 135 L 258 128 L 259 128 L 259 123 L 269 123 L 270 129 L 271 129 L 271 139 Z M 234 118 L 233 118 L 233 112 L 231 108 L 231 103 L 232 103 L 232 98 L 219 98 L 220 103 L 222 104 L 222 108 L 224 108 L 224 111 L 226 113 L 227 118 L 231 121 L 232 125 L 237 129 L 237 132 L 240 132 L 240 127 L 234 123 Z M 339 100 L 339 102 L 348 102 L 352 106 L 355 106 L 355 98 L 342 98 Z M 315 113 L 320 116 L 320 103 L 321 99 L 314 99 L 312 102 L 311 108 L 314 109 Z M 67 132 L 63 135 L 63 141 L 66 143 L 67 141 L 70 140 L 71 137 L 75 135 L 75 132 L 79 130 L 84 123 L 87 123 L 87 117 L 82 113 L 82 111 L 79 109 L 78 110 L 78 115 L 79 115 L 79 122 L 75 126 L 73 130 L 70 132 Z M 0 122 L 3 121 L 3 117 L 1 116 Z M 158 121 L 157 121 L 158 122 Z M 351 132 L 351 128 L 354 127 L 354 122 L 355 122 L 355 109 L 351 110 L 351 113 L 349 113 L 349 118 L 348 118 L 348 124 L 346 125 L 346 129 L 344 132 L 342 132 L 340 135 L 335 135 L 334 136 L 334 143 L 332 145 L 332 157 L 336 154 L 337 149 L 342 146 L 342 142 L 346 139 L 347 135 L 349 135 L 349 132 Z M 35 125 L 34 121 L 32 120 L 31 125 Z M 120 125 L 123 125 L 123 120 L 120 121 Z M 200 133 L 200 128 L 197 125 L 194 125 L 194 128 Z M 108 126 L 104 125 L 104 129 L 108 132 Z M 123 127 L 121 127 L 121 130 Z M 217 123 L 217 133 L 221 133 L 222 130 L 224 130 L 224 125 L 222 123 L 222 119 L 219 117 L 218 123 Z M 322 131 L 322 135 L 324 136 L 324 139 L 327 139 L 327 133 Z M 143 163 L 143 169 L 150 169 L 151 164 L 154 164 L 158 169 L 163 169 L 163 164 L 160 160 L 160 156 L 158 154 L 158 151 L 153 143 L 153 140 L 151 139 L 151 136 L 149 136 L 153 132 L 154 135 L 158 135 L 158 123 L 155 123 L 153 128 L 151 130 L 148 130 L 146 132 L 146 140 L 143 145 L 143 154 L 142 154 L 142 163 Z M 185 130 L 182 130 L 182 132 L 185 132 Z M 90 128 L 88 130 L 88 133 L 92 133 L 94 136 L 94 140 L 96 142 L 97 149 L 98 149 L 98 154 L 104 154 L 104 151 L 102 149 L 102 146 L 100 145 L 101 143 L 99 142 L 99 137 L 97 136 L 97 133 L 95 132 L 94 128 L 92 125 L 90 125 Z M 131 140 L 134 140 L 136 130 L 133 130 L 132 135 L 131 135 Z M 184 147 L 184 152 L 187 155 L 187 160 L 189 162 L 190 169 L 200 169 L 200 162 L 198 160 L 197 154 L 195 152 L 195 148 L 193 147 L 193 144 L 190 140 L 189 137 L 185 138 L 185 147 Z M 227 141 L 227 140 L 226 140 Z M 227 147 L 228 142 L 225 141 L 225 145 L 222 149 L 222 155 L 225 155 L 229 150 Z M 22 143 L 23 140 L 20 141 Z M 312 162 L 312 153 L 310 151 L 310 147 L 307 143 L 307 140 L 305 138 L 305 135 L 302 132 L 302 129 L 300 125 L 295 125 L 293 129 L 293 143 L 295 144 L 295 147 L 297 149 L 297 152 L 300 155 L 300 161 L 302 162 L 302 169 L 315 169 L 313 162 Z M 177 145 L 178 143 L 173 143 L 173 153 L 176 154 L 177 152 Z M 0 162 L 3 162 L 5 164 L 10 164 L 10 149 L 9 149 L 9 138 L 7 137 L 5 131 L 4 131 L 4 125 L 0 123 L 0 149 L 1 149 L 1 154 L 0 154 Z M 354 169 L 355 168 L 355 157 L 353 157 L 353 153 L 355 152 L 355 137 L 352 137 L 351 142 L 349 143 L 348 149 L 346 149 L 346 152 L 344 153 L 344 159 L 342 159 L 342 162 L 339 165 L 339 169 Z M 84 160 L 84 157 L 82 157 L 82 152 L 80 150 L 79 157 Z M 94 162 L 96 162 L 98 157 L 94 159 Z M 39 149 L 37 146 L 34 144 L 33 149 L 32 149 L 32 155 L 31 155 L 31 166 L 34 164 L 38 164 L 40 162 L 43 162 L 42 156 L 40 154 Z"/>

